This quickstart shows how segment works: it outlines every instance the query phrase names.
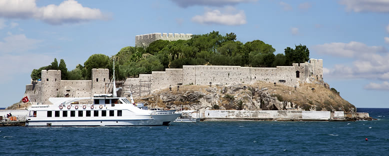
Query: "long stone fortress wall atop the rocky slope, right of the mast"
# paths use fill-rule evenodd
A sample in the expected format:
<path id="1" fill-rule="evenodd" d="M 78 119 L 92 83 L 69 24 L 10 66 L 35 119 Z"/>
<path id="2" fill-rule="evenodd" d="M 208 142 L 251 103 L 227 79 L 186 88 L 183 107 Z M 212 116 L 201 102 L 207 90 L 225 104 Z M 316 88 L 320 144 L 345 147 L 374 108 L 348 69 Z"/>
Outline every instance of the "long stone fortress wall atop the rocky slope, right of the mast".
<path id="1" fill-rule="evenodd" d="M 311 58 L 309 62 L 277 67 L 183 65 L 179 69 L 166 68 L 165 71 L 140 74 L 138 78 L 126 78 L 124 84 L 135 86 L 139 85 L 141 80 L 150 80 L 150 90 L 152 91 L 169 86 L 176 87 L 177 84 L 209 85 L 209 82 L 212 84 L 230 84 L 233 82 L 250 84 L 258 80 L 299 87 L 300 83 L 322 81 L 322 78 L 323 60 Z M 129 90 L 123 89 L 123 91 Z"/>

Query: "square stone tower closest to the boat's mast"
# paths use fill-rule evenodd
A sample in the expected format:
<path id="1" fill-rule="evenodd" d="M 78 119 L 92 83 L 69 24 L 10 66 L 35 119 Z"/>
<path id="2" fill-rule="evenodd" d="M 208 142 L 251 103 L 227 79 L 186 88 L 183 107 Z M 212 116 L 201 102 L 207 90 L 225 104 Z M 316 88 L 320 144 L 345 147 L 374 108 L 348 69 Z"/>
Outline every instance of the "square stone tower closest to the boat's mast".
<path id="1" fill-rule="evenodd" d="M 107 93 L 105 92 L 105 83 L 109 82 L 109 70 L 108 69 L 92 69 L 92 88 L 91 96 L 93 94 Z"/>

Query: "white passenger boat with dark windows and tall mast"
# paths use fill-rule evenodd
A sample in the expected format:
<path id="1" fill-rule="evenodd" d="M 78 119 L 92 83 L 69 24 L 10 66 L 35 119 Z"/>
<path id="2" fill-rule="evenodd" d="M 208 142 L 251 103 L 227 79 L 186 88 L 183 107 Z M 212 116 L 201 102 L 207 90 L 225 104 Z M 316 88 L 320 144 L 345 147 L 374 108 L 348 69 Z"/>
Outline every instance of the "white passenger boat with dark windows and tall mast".
<path id="1" fill-rule="evenodd" d="M 116 90 L 114 80 L 113 90 Z M 52 104 L 31 105 L 26 126 L 168 125 L 181 115 L 136 106 L 132 94 L 129 101 L 125 97 L 116 97 L 116 91 L 93 97 L 50 97 L 48 100 Z"/>

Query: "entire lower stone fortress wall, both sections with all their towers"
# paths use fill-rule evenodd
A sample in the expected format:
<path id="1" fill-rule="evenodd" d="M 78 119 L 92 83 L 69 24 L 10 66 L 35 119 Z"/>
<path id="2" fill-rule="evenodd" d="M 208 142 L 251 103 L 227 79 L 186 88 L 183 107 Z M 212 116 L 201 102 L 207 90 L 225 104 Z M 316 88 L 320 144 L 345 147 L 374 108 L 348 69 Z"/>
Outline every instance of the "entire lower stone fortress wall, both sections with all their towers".
<path id="1" fill-rule="evenodd" d="M 140 90 L 158 90 L 176 87 L 177 84 L 231 84 L 233 82 L 254 83 L 258 80 L 276 82 L 298 87 L 307 81 L 321 81 L 323 78 L 322 59 L 310 59 L 305 63 L 293 63 L 292 66 L 277 67 L 242 67 L 226 65 L 183 65 L 182 68 L 166 68 L 165 71 L 152 71 L 151 74 L 139 74 L 137 78 L 126 78 L 123 88 L 128 92 L 131 86 L 142 87 Z M 41 81 L 25 86 L 24 96 L 31 102 L 49 104 L 49 97 L 89 97 L 93 94 L 109 93 L 106 88 L 109 80 L 108 69 L 92 69 L 92 80 L 61 80 L 60 70 L 42 70 Z M 139 85 L 148 81 L 149 88 Z M 138 88 L 139 89 L 139 88 Z M 137 96 L 138 94 L 133 94 Z"/>

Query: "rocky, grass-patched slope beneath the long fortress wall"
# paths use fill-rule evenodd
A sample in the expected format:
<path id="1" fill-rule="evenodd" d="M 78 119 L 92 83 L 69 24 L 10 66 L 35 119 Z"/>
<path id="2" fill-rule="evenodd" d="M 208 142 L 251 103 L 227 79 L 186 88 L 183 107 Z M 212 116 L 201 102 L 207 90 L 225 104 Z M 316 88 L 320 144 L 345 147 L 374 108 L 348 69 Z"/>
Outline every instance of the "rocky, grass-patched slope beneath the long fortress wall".
<path id="1" fill-rule="evenodd" d="M 179 91 L 155 91 L 136 99 L 149 107 L 221 110 L 328 110 L 354 112 L 355 107 L 328 89 L 328 85 L 305 84 L 299 88 L 267 82 L 182 85 Z M 315 89 L 311 89 L 315 88 Z"/>

